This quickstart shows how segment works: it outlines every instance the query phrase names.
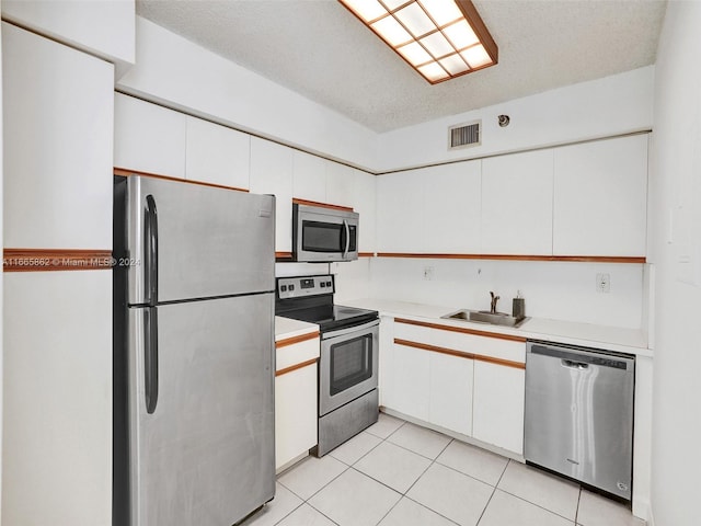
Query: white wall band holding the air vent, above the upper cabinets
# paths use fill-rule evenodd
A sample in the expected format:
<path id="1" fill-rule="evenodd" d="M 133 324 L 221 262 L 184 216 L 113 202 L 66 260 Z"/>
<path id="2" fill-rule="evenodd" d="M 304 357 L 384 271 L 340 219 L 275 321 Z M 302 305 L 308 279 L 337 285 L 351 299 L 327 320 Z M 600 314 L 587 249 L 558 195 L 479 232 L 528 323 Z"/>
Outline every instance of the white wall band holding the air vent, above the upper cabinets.
<path id="1" fill-rule="evenodd" d="M 652 128 L 654 67 L 582 82 L 379 136 L 378 171 L 554 146 Z M 510 116 L 501 128 L 497 116 Z M 448 151 L 448 127 L 482 119 L 480 146 Z"/>

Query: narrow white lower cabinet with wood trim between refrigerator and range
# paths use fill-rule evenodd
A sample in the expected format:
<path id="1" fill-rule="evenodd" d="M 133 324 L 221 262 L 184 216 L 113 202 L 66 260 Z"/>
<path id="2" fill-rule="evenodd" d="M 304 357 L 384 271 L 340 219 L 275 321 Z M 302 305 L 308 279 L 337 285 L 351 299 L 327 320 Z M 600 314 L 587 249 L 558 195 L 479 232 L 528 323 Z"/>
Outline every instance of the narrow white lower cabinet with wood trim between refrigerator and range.
<path id="1" fill-rule="evenodd" d="M 317 445 L 319 338 L 276 342 L 275 469 L 280 471 Z"/>

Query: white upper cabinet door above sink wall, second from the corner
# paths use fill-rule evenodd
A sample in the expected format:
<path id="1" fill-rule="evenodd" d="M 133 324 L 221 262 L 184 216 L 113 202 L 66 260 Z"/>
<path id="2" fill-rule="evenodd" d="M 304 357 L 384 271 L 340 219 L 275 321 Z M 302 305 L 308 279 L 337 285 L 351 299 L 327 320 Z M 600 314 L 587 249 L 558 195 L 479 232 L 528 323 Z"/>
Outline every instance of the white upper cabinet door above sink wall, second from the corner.
<path id="1" fill-rule="evenodd" d="M 424 252 L 480 252 L 481 161 L 458 162 L 421 171 Z"/>

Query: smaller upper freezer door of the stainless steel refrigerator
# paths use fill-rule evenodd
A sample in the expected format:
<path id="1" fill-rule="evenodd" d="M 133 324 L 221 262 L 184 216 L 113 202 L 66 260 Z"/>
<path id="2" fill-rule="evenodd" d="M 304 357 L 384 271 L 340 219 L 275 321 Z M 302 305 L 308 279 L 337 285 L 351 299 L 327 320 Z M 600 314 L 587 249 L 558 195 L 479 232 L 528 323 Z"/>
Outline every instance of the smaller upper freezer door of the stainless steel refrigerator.
<path id="1" fill-rule="evenodd" d="M 131 175 L 126 199 L 129 305 L 275 288 L 275 197 Z"/>

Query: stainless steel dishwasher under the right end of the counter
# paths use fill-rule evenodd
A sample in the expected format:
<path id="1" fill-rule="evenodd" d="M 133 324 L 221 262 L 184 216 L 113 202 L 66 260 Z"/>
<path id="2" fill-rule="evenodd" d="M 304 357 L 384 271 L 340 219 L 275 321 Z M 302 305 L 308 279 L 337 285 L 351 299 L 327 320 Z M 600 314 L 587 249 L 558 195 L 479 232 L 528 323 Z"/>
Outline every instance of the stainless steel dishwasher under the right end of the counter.
<path id="1" fill-rule="evenodd" d="M 635 357 L 528 342 L 524 457 L 631 500 Z"/>

